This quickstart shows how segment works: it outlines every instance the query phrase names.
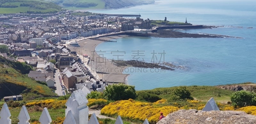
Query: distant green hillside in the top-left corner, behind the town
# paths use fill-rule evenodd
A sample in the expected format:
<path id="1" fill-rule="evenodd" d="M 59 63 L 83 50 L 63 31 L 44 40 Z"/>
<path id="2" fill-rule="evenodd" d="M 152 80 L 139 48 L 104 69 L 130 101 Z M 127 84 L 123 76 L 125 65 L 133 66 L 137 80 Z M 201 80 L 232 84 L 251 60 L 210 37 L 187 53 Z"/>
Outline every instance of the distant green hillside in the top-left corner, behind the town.
<path id="1" fill-rule="evenodd" d="M 7 13 L 55 13 L 61 11 L 57 4 L 43 0 L 1 0 L 0 14 Z"/>

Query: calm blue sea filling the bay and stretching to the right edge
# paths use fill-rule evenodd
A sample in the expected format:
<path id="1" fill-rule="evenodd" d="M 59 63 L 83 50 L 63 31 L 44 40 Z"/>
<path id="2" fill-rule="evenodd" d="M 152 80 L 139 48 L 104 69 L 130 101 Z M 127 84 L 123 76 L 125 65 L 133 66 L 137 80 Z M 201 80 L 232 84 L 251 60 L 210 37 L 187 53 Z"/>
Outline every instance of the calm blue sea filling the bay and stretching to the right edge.
<path id="1" fill-rule="evenodd" d="M 119 60 L 168 62 L 175 70 L 129 67 L 127 82 L 136 90 L 158 87 L 256 83 L 255 0 L 155 0 L 155 4 L 121 9 L 88 10 L 108 14 L 140 14 L 143 19 L 218 26 L 178 30 L 210 33 L 228 38 L 153 38 L 129 36 L 104 42 L 95 50 Z M 131 17 L 134 18 L 134 17 Z M 101 55 L 102 56 L 102 55 Z"/>

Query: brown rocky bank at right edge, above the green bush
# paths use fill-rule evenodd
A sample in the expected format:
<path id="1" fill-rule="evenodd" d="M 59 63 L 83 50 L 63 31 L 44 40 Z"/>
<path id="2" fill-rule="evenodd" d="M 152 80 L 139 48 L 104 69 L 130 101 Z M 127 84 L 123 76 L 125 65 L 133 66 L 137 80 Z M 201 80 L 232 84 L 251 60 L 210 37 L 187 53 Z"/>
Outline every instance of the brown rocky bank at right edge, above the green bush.
<path id="1" fill-rule="evenodd" d="M 225 90 L 232 90 L 232 91 L 254 91 L 256 92 L 256 84 L 254 83 L 245 83 L 245 84 L 230 84 L 230 85 L 219 85 L 216 86 L 220 89 L 225 89 Z"/>

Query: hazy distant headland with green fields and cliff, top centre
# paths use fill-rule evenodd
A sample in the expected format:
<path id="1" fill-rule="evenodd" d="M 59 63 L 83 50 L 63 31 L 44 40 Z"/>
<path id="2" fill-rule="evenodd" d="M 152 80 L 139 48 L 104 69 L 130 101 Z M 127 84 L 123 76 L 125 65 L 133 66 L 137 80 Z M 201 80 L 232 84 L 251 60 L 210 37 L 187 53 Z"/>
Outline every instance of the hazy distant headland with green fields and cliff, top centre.
<path id="1" fill-rule="evenodd" d="M 154 0 L 46 0 L 67 9 L 98 8 L 112 9 L 135 6 L 142 4 L 153 4 Z"/>

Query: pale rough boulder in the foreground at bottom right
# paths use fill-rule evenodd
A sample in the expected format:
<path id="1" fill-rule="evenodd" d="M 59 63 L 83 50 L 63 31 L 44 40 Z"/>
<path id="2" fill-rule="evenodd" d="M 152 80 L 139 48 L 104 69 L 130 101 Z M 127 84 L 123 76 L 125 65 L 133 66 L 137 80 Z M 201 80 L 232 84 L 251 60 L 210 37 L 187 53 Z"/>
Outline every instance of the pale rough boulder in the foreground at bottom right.
<path id="1" fill-rule="evenodd" d="M 179 110 L 156 124 L 255 124 L 256 116 L 242 111 Z"/>

